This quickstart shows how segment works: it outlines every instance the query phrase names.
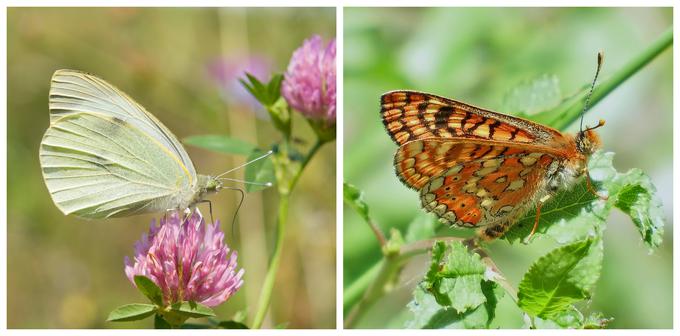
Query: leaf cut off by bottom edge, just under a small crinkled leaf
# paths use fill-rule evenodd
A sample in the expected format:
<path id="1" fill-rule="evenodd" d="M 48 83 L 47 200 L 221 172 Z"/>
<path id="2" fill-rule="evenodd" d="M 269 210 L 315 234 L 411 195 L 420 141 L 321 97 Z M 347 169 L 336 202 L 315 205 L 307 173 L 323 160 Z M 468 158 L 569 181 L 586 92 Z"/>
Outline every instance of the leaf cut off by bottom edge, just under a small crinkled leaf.
<path id="1" fill-rule="evenodd" d="M 482 281 L 484 304 L 464 313 L 456 312 L 450 307 L 442 307 L 437 303 L 432 293 L 424 286 L 416 287 L 413 300 L 407 305 L 413 317 L 406 322 L 405 327 L 414 329 L 480 329 L 489 328 L 494 319 L 496 305 L 503 297 L 503 289 L 493 281 Z"/>

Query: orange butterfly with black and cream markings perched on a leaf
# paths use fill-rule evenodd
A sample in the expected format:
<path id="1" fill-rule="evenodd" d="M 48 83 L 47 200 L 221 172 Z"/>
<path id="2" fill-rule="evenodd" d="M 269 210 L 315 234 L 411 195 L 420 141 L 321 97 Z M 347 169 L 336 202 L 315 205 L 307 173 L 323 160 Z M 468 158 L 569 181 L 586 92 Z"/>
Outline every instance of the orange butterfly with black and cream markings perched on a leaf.
<path id="1" fill-rule="evenodd" d="M 595 80 L 601 63 L 598 55 Z M 535 205 L 533 235 L 543 203 L 587 176 L 588 157 L 601 146 L 594 129 L 602 120 L 573 136 L 427 93 L 392 91 L 380 103 L 385 128 L 400 146 L 399 179 L 441 222 L 479 228 L 485 240 L 502 236 Z"/>

